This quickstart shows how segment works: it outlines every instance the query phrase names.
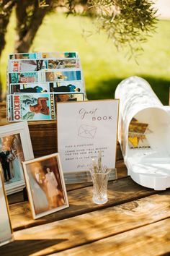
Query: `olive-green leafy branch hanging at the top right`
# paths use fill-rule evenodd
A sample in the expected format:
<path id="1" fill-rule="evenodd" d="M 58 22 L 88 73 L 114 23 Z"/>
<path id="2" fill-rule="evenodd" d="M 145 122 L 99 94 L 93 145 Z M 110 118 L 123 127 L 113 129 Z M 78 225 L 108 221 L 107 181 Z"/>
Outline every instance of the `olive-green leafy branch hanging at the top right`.
<path id="1" fill-rule="evenodd" d="M 91 0 L 99 30 L 104 30 L 117 48 L 129 46 L 131 54 L 142 50 L 156 30 L 156 10 L 151 0 Z"/>

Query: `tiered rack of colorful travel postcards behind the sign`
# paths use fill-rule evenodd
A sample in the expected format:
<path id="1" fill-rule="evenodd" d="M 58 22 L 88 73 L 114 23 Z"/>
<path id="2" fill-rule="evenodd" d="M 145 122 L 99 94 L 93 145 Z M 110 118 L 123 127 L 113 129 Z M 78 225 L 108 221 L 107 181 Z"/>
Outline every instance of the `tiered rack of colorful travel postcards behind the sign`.
<path id="1" fill-rule="evenodd" d="M 10 54 L 7 71 L 8 121 L 54 120 L 57 102 L 86 99 L 76 52 Z"/>

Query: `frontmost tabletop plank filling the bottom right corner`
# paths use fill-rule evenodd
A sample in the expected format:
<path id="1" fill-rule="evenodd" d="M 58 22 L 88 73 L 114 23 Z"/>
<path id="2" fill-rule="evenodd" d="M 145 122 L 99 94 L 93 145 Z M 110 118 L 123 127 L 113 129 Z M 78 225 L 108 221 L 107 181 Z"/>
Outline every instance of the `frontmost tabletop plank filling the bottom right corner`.
<path id="1" fill-rule="evenodd" d="M 156 256 L 170 253 L 170 218 L 55 255 Z M 53 254 L 54 255 L 54 254 Z"/>

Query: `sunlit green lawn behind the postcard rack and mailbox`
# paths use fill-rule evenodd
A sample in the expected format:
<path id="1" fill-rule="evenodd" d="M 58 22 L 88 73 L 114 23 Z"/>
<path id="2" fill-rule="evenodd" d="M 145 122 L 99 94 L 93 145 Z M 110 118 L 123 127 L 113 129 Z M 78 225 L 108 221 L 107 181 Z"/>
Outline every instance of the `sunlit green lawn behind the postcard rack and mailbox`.
<path id="1" fill-rule="evenodd" d="M 87 98 L 113 98 L 117 84 L 132 75 L 146 79 L 164 105 L 169 103 L 170 85 L 170 21 L 159 21 L 152 38 L 143 45 L 144 52 L 134 59 L 117 51 L 104 33 L 97 34 L 87 17 L 65 17 L 50 14 L 38 30 L 30 51 L 78 51 L 84 71 Z M 82 36 L 86 31 L 86 37 Z M 91 36 L 88 36 L 92 32 Z M 1 77 L 5 88 L 6 61 L 14 46 L 14 16 L 6 37 L 6 48 L 1 59 Z"/>

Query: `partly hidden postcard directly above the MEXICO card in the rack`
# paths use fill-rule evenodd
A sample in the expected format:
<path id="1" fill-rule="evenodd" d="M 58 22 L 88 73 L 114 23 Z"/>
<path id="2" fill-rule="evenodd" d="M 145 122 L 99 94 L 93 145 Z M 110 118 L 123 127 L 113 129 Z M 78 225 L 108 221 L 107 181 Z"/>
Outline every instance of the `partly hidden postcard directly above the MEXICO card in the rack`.
<path id="1" fill-rule="evenodd" d="M 48 82 L 35 82 L 27 84 L 10 84 L 9 93 L 50 93 Z"/>

